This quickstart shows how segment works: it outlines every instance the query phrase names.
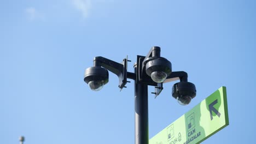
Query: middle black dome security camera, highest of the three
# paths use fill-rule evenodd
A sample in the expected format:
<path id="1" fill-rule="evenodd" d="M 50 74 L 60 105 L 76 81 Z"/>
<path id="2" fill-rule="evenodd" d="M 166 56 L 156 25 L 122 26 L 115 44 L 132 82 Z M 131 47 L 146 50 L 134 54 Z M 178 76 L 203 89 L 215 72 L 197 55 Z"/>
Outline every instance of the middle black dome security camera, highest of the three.
<path id="1" fill-rule="evenodd" d="M 172 73 L 172 64 L 163 57 L 149 58 L 146 61 L 146 73 L 154 82 L 164 82 L 166 77 Z"/>

